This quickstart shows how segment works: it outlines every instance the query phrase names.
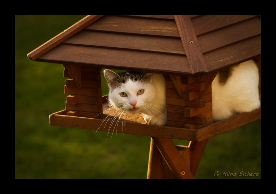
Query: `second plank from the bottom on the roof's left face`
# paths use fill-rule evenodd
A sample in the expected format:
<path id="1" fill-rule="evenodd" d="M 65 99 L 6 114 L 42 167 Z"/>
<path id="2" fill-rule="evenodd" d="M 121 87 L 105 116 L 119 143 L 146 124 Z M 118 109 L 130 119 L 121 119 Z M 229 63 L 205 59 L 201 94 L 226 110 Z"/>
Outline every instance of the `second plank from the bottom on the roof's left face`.
<path id="1" fill-rule="evenodd" d="M 81 31 L 63 43 L 185 55 L 181 39 L 172 37 Z"/>

